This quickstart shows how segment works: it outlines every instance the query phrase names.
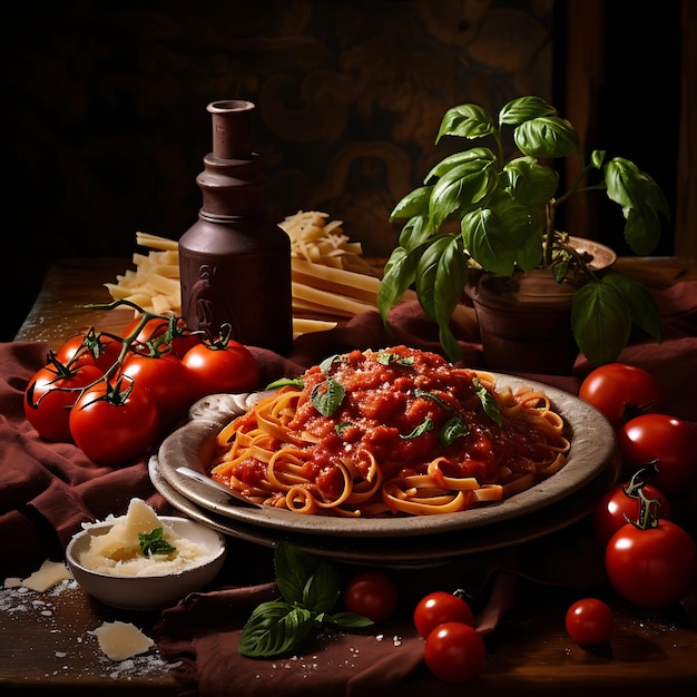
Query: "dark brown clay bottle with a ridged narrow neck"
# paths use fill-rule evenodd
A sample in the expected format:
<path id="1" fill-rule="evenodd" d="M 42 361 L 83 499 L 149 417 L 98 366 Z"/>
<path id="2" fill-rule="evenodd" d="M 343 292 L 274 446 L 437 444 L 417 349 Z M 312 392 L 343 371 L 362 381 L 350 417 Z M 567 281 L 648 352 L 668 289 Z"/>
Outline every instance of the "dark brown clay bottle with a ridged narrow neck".
<path id="1" fill-rule="evenodd" d="M 293 341 L 291 242 L 267 217 L 249 101 L 214 101 L 213 153 L 196 178 L 198 220 L 179 239 L 181 315 L 217 336 L 285 354 Z"/>

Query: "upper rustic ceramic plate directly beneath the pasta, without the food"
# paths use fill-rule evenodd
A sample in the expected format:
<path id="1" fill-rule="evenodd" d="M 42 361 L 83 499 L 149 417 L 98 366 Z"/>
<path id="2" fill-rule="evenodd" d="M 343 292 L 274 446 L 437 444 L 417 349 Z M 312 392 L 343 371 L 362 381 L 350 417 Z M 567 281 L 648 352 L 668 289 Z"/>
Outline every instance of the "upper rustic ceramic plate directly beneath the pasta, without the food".
<path id="1" fill-rule="evenodd" d="M 579 491 L 609 467 L 615 450 L 615 432 L 598 410 L 550 385 L 502 374 L 495 376 L 500 387 L 510 385 L 516 389 L 524 384 L 543 391 L 565 419 L 571 450 L 567 464 L 552 477 L 510 499 L 482 508 L 439 516 L 373 519 L 305 516 L 245 505 L 225 492 L 181 474 L 178 471 L 180 467 L 207 474 L 216 434 L 233 416 L 258 400 L 259 393 L 212 395 L 196 403 L 190 412 L 190 421 L 163 442 L 158 452 L 158 468 L 167 484 L 187 500 L 245 526 L 322 537 L 399 538 L 462 531 L 527 516 Z"/>

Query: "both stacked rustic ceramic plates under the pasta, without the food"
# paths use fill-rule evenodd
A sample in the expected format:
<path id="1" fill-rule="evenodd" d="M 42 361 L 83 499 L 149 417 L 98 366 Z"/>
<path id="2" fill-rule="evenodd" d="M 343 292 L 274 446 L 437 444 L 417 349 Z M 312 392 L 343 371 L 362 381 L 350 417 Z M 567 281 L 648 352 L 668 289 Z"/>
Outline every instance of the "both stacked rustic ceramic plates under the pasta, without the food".
<path id="1" fill-rule="evenodd" d="M 207 463 L 215 436 L 258 394 L 212 395 L 197 402 L 189 422 L 150 459 L 157 491 L 176 509 L 234 538 L 274 547 L 279 540 L 337 561 L 423 567 L 510 547 L 560 530 L 589 513 L 615 483 L 615 432 L 595 408 L 533 381 L 498 374 L 497 385 L 544 392 L 568 426 L 566 465 L 543 482 L 485 507 L 421 517 L 346 519 L 255 507 L 210 485 Z M 186 473 L 193 470 L 199 479 Z M 203 479 L 204 481 L 199 481 Z"/>

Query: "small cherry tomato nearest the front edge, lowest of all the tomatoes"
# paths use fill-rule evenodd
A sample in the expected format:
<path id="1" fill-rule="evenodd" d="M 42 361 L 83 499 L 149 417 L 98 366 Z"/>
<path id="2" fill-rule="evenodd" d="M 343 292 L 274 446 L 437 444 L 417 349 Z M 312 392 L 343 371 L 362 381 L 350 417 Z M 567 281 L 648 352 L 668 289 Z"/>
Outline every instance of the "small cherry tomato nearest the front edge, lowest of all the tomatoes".
<path id="1" fill-rule="evenodd" d="M 423 657 L 436 678 L 464 683 L 481 673 L 487 652 L 477 629 L 464 622 L 445 622 L 426 637 Z"/>

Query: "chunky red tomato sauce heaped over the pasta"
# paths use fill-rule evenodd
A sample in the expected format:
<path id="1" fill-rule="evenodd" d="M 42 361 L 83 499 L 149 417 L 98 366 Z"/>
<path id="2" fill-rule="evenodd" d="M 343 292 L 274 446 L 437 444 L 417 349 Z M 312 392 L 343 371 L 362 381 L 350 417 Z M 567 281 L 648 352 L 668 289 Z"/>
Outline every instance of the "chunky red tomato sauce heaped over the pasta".
<path id="1" fill-rule="evenodd" d="M 446 475 L 475 477 L 480 484 L 495 481 L 500 465 L 523 472 L 532 468 L 539 434 L 530 432 L 523 419 L 498 425 L 484 412 L 474 377 L 474 371 L 453 371 L 441 356 L 405 346 L 354 351 L 328 369 L 314 366 L 304 375 L 296 413 L 287 424 L 318 440 L 311 446 L 305 474 L 317 483 L 320 478 L 323 492 L 331 497 L 338 495 L 343 481 L 330 477 L 327 468 L 340 460 L 351 462 L 365 477 L 369 453 L 385 480 L 425 474 L 438 457 L 445 458 Z M 327 381 L 343 387 L 343 397 L 323 414 L 313 394 Z M 467 432 L 444 443 L 442 433 L 453 418 Z"/>

